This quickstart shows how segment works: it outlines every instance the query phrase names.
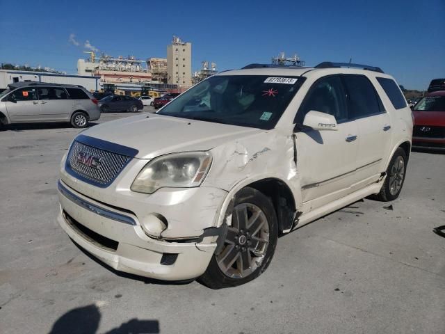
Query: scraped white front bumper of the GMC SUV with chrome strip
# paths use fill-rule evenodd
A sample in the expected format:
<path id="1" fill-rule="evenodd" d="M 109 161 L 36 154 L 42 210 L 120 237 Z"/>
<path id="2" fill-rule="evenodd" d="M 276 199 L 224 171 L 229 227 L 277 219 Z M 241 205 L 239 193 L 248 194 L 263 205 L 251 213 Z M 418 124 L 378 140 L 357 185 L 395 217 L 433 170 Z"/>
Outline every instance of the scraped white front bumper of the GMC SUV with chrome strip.
<path id="1" fill-rule="evenodd" d="M 61 181 L 58 197 L 58 223 L 63 230 L 81 248 L 118 271 L 160 280 L 197 278 L 207 269 L 217 246 L 216 237 L 195 242 L 148 237 L 136 215 L 87 198 Z M 166 255 L 173 255 L 175 261 L 161 264 Z"/>

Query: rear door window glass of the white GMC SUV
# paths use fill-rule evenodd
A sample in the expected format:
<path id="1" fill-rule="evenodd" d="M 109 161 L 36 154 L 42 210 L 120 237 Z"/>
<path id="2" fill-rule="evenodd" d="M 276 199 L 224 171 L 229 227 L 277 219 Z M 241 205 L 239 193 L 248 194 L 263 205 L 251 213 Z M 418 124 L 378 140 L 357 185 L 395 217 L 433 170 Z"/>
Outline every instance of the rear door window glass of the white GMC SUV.
<path id="1" fill-rule="evenodd" d="M 348 93 L 348 113 L 351 120 L 381 113 L 377 93 L 371 81 L 362 75 L 344 75 Z"/>

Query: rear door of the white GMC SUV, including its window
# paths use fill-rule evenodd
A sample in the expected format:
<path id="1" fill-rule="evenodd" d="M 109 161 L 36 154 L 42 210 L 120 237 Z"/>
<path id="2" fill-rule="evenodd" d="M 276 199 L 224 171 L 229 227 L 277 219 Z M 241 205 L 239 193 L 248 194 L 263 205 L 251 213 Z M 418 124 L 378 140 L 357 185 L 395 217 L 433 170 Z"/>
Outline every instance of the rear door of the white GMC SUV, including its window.
<path id="1" fill-rule="evenodd" d="M 391 145 L 391 120 L 371 81 L 364 75 L 344 74 L 348 115 L 358 129 L 357 173 L 353 190 L 378 180 Z"/>

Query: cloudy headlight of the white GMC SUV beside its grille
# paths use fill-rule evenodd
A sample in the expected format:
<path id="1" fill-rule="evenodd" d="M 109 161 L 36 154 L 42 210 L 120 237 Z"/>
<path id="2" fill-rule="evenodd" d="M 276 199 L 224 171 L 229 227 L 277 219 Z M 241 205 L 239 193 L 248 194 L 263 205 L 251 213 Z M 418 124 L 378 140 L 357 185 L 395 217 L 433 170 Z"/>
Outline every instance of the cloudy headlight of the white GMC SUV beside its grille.
<path id="1" fill-rule="evenodd" d="M 209 152 L 168 154 L 149 161 L 131 184 L 138 193 L 154 193 L 165 186 L 200 186 L 211 165 Z"/>

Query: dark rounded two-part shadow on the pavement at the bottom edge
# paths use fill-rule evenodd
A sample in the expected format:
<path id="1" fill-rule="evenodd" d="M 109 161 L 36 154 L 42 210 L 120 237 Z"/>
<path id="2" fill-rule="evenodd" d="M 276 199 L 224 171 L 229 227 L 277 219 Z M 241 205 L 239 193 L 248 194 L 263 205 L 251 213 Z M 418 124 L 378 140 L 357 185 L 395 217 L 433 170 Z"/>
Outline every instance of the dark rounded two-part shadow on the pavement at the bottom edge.
<path id="1" fill-rule="evenodd" d="M 74 308 L 58 318 L 49 334 L 96 334 L 101 314 L 96 305 Z M 160 333 L 159 321 L 130 319 L 104 334 Z"/>

